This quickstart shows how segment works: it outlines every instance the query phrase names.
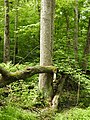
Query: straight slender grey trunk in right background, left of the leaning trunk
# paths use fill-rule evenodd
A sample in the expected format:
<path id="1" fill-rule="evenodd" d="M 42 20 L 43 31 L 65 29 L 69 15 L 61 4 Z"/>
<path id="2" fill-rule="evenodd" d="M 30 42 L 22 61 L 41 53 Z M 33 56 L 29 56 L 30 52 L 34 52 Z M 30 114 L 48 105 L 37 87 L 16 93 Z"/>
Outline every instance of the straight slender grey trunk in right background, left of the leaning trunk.
<path id="1" fill-rule="evenodd" d="M 75 60 L 78 61 L 78 0 L 75 0 L 75 28 L 74 28 L 74 53 L 75 53 Z"/>

